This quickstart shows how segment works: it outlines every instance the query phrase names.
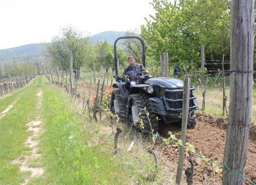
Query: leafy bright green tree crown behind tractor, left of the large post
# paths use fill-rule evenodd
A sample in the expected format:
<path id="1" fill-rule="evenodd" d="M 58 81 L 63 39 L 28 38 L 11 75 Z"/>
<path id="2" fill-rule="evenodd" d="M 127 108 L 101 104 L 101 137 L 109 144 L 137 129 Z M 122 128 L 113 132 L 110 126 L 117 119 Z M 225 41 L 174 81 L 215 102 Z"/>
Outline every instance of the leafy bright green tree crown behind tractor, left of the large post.
<path id="1" fill-rule="evenodd" d="M 155 60 L 167 51 L 171 63 L 197 61 L 201 44 L 206 58 L 229 53 L 230 1 L 153 0 L 151 4 L 156 14 L 141 26 L 141 36 L 147 41 L 147 54 Z"/>

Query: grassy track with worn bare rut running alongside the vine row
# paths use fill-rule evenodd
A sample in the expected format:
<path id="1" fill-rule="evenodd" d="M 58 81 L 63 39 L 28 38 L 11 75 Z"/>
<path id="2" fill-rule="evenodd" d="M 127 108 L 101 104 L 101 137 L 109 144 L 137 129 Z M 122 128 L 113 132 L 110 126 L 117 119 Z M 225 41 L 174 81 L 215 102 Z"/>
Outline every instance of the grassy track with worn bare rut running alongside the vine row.
<path id="1" fill-rule="evenodd" d="M 0 184 L 129 184 L 118 158 L 91 144 L 70 98 L 37 76 L 0 100 Z M 2 104 L 3 102 L 3 104 Z M 95 125 L 94 125 L 95 126 Z"/>

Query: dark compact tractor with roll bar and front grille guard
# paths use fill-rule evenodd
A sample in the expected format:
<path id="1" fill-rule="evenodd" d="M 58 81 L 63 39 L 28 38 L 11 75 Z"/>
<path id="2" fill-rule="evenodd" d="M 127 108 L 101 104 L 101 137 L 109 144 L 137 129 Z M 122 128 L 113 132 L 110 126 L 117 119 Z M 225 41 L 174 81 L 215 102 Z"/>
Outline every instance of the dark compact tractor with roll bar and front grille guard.
<path id="1" fill-rule="evenodd" d="M 136 75 L 138 84 L 130 86 L 126 77 L 119 75 L 117 59 L 117 42 L 121 39 L 137 38 L 142 45 L 142 61 L 145 67 L 145 43 L 138 36 L 119 37 L 114 43 L 115 79 L 112 85 L 115 89 L 111 95 L 110 110 L 121 120 L 141 128 L 139 122 L 144 123 L 141 132 L 158 131 L 159 124 L 181 122 L 183 105 L 183 81 L 172 77 L 152 77 L 143 71 Z M 189 93 L 188 127 L 196 124 L 195 110 L 198 110 L 196 97 L 193 95 L 195 87 Z M 145 109 L 146 108 L 146 109 Z M 146 111 L 145 111 L 146 110 Z M 147 112 L 149 113 L 147 116 Z"/>

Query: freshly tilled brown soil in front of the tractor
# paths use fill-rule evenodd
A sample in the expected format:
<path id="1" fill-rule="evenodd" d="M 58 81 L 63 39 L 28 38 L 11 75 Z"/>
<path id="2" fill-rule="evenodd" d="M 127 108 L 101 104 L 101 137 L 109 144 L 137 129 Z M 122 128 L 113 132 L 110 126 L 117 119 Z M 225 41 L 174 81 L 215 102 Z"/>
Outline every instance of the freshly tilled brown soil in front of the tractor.
<path id="1" fill-rule="evenodd" d="M 187 130 L 187 142 L 193 144 L 196 150 L 202 151 L 202 153 L 211 160 L 222 163 L 225 139 L 226 139 L 226 118 L 216 118 L 212 115 L 197 114 L 197 125 L 195 129 Z M 177 137 L 181 134 L 181 126 L 179 125 L 165 125 L 160 129 L 160 134 L 164 137 L 168 137 L 167 132 L 175 132 Z M 173 145 L 167 145 L 164 148 L 165 156 L 174 161 L 178 161 L 178 148 Z M 202 183 L 203 181 L 211 181 L 213 184 L 221 184 L 221 178 L 215 174 L 211 167 L 198 168 L 202 161 L 193 157 L 196 164 L 195 167 L 195 182 Z M 189 167 L 187 165 L 186 167 Z M 248 142 L 248 153 L 245 165 L 245 174 L 256 183 L 256 133 L 251 132 Z M 202 165 L 201 165 L 202 167 Z"/>

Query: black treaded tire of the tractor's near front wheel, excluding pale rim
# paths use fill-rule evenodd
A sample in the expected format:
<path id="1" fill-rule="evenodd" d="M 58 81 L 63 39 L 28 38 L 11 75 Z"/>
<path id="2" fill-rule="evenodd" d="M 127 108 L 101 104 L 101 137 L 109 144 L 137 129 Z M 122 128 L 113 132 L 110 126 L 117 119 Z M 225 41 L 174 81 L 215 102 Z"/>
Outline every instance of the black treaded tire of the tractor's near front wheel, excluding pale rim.
<path id="1" fill-rule="evenodd" d="M 130 122 L 131 125 L 134 125 L 131 116 L 132 116 L 132 112 L 131 112 L 131 107 L 133 105 L 137 105 L 138 106 L 138 110 L 139 110 L 139 118 L 142 119 L 143 123 L 144 123 L 144 129 L 141 130 L 139 124 L 137 123 L 136 129 L 140 130 L 143 133 L 148 133 L 151 132 L 151 128 L 153 129 L 154 132 L 158 131 L 158 122 L 156 119 L 156 114 L 154 112 L 151 112 L 151 105 L 149 103 L 149 96 L 145 93 L 141 93 L 141 94 L 131 94 L 129 95 L 128 98 L 128 103 L 127 103 L 127 114 L 126 114 L 126 120 Z M 147 118 L 146 112 L 143 111 L 143 109 L 146 108 L 146 110 L 149 112 L 149 120 Z M 151 126 L 150 126 L 150 123 Z"/>

